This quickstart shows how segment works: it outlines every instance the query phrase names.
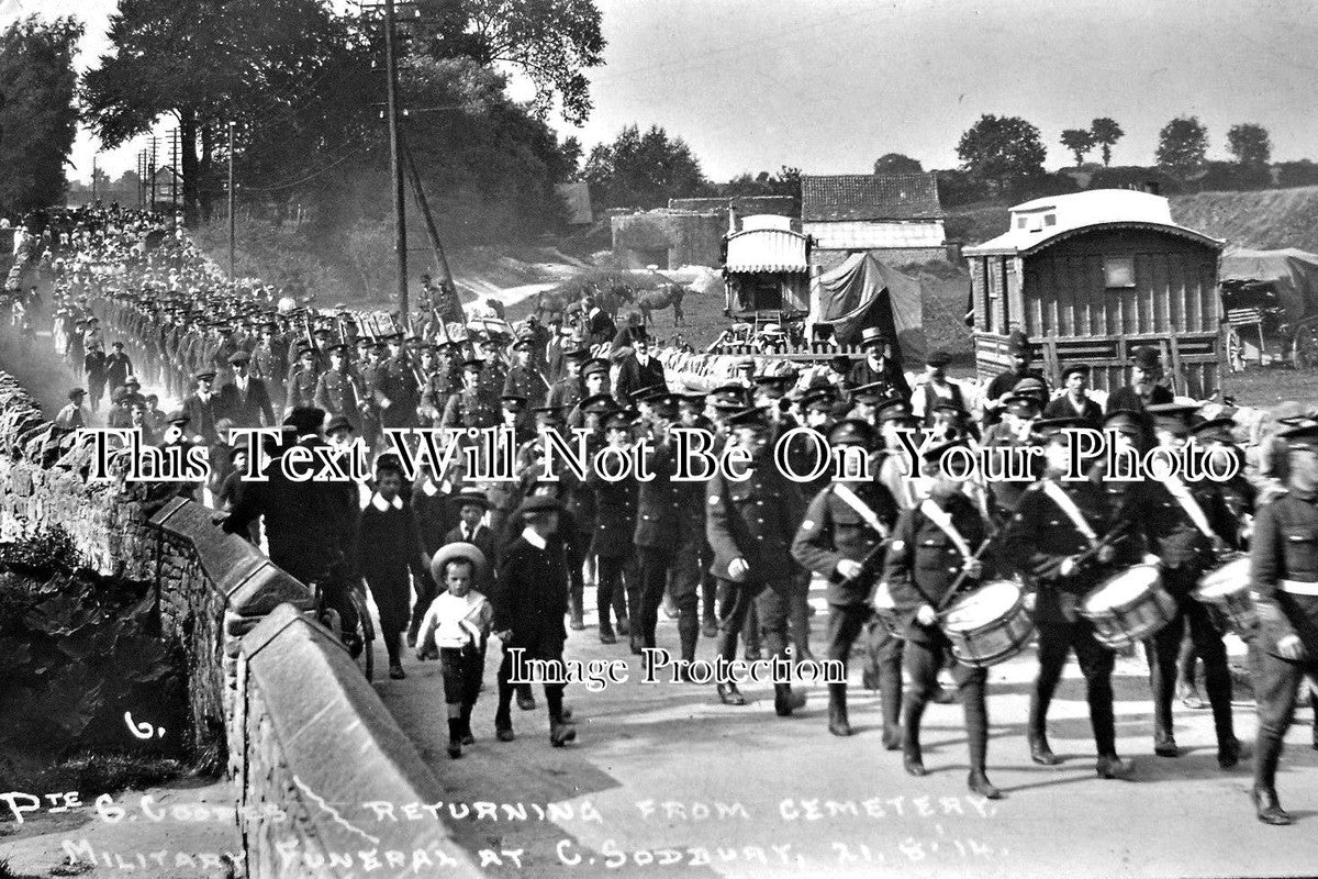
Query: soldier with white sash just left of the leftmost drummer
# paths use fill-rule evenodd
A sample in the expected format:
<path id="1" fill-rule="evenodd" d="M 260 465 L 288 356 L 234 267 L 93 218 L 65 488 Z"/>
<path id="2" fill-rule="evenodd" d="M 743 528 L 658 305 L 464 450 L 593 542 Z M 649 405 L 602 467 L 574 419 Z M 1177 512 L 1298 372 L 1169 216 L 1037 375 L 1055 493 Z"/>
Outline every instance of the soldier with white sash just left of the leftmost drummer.
<path id="1" fill-rule="evenodd" d="M 830 447 L 859 448 L 866 455 L 874 440 L 874 428 L 859 420 L 840 422 L 828 434 Z M 851 644 L 870 617 L 870 593 L 882 571 L 880 543 L 891 532 L 896 518 L 896 501 L 880 482 L 837 481 L 811 501 L 792 542 L 792 556 L 828 580 L 828 658 L 844 663 L 844 667 L 851 656 Z M 892 723 L 886 722 L 883 730 L 884 738 L 891 741 L 898 735 L 896 706 L 890 706 L 884 698 L 883 708 L 886 721 L 890 709 L 894 709 Z M 833 735 L 851 734 L 845 683 L 829 684 L 828 729 Z"/>

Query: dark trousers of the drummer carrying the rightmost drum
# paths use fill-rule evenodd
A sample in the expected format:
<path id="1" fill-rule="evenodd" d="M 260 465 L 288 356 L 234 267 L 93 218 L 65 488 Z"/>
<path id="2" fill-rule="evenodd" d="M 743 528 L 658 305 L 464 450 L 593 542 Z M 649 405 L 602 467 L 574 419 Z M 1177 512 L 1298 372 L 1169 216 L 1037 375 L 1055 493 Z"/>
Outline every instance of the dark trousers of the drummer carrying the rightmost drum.
<path id="1" fill-rule="evenodd" d="M 1218 745 L 1235 739 L 1231 721 L 1231 671 L 1227 668 L 1227 648 L 1222 643 L 1222 633 L 1213 623 L 1209 609 L 1190 598 L 1199 572 L 1194 568 L 1172 568 L 1162 575 L 1164 585 L 1176 597 L 1177 613 L 1166 626 L 1153 635 L 1147 647 L 1149 654 L 1149 679 L 1153 689 L 1153 730 L 1155 737 L 1172 735 L 1172 700 L 1176 696 L 1177 656 L 1181 651 L 1181 637 L 1188 626 L 1194 652 L 1203 660 L 1203 683 L 1209 704 L 1213 706 L 1213 725 L 1217 729 Z"/>

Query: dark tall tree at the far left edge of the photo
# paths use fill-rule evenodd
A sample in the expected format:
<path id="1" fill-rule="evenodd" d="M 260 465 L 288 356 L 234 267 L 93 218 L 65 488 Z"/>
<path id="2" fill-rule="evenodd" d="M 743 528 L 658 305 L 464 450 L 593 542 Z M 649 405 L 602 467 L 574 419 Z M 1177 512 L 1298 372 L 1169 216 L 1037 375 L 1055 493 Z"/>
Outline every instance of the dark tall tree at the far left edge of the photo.
<path id="1" fill-rule="evenodd" d="M 78 130 L 72 58 L 83 26 L 30 16 L 0 36 L 0 213 L 63 202 Z"/>

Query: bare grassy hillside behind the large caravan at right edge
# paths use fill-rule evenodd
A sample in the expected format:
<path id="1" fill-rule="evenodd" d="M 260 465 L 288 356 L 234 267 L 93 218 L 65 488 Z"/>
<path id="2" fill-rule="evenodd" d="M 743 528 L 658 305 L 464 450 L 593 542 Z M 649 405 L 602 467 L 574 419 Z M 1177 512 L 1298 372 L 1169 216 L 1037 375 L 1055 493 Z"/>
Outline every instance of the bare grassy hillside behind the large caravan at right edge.
<path id="1" fill-rule="evenodd" d="M 1226 239 L 1228 246 L 1318 252 L 1318 186 L 1177 195 L 1172 216 L 1181 225 Z"/>

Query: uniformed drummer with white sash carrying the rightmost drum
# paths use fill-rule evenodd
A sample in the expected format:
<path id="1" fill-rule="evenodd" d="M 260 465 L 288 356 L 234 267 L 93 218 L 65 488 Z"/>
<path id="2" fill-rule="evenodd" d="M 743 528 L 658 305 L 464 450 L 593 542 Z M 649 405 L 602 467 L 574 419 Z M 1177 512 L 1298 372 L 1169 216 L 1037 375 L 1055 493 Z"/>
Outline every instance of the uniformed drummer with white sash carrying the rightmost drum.
<path id="1" fill-rule="evenodd" d="M 1157 445 L 1180 449 L 1190 436 L 1190 416 L 1198 406 L 1155 403 L 1147 407 L 1152 418 Z M 1161 559 L 1162 586 L 1176 598 L 1177 613 L 1152 638 L 1149 655 L 1153 685 L 1153 752 L 1180 756 L 1172 735 L 1172 700 L 1176 684 L 1176 659 L 1181 637 L 1189 626 L 1194 650 L 1203 659 L 1205 689 L 1213 706 L 1213 725 L 1218 738 L 1218 766 L 1228 770 L 1240 762 L 1231 718 L 1231 672 L 1222 633 L 1217 630 L 1209 609 L 1190 593 L 1199 577 L 1217 565 L 1218 555 L 1236 542 L 1236 523 L 1227 510 L 1217 482 L 1203 480 L 1184 482 L 1172 474 L 1165 480 L 1149 478 L 1140 484 L 1137 509 L 1143 518 L 1149 552 Z"/>

